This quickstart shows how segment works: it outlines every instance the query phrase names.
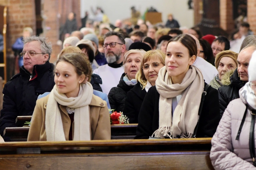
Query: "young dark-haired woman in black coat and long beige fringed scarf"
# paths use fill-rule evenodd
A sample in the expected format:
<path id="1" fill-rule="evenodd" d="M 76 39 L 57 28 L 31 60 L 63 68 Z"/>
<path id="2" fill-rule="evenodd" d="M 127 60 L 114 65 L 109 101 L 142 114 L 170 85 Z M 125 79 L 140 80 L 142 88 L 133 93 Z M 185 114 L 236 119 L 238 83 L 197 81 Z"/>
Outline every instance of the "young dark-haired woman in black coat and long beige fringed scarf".
<path id="1" fill-rule="evenodd" d="M 190 35 L 180 34 L 168 42 L 165 67 L 159 70 L 156 86 L 149 89 L 141 106 L 136 139 L 214 135 L 220 120 L 218 91 L 192 66 L 196 54 L 196 42 Z"/>

